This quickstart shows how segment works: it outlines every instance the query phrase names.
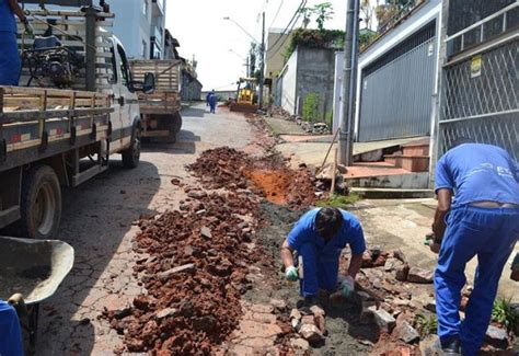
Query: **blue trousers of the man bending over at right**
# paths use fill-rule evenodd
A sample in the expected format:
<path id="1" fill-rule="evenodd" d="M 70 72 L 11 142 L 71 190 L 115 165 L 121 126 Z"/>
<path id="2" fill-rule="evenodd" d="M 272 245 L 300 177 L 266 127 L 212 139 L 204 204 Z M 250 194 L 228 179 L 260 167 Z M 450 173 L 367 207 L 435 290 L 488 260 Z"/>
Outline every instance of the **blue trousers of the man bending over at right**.
<path id="1" fill-rule="evenodd" d="M 447 225 L 435 274 L 438 336 L 442 343 L 459 338 L 463 355 L 473 356 L 485 337 L 499 277 L 519 237 L 519 209 L 463 206 L 449 214 Z M 474 289 L 460 322 L 465 264 L 475 255 Z"/>

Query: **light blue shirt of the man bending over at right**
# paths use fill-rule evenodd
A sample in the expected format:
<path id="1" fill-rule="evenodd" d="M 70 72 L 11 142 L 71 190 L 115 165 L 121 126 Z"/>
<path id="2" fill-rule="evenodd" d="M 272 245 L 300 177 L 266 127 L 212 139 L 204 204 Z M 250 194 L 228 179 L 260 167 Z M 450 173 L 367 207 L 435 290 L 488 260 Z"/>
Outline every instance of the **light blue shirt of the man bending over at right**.
<path id="1" fill-rule="evenodd" d="M 453 207 L 476 202 L 519 205 L 516 164 L 510 154 L 499 147 L 483 143 L 460 145 L 438 161 L 435 191 L 453 191 Z"/>

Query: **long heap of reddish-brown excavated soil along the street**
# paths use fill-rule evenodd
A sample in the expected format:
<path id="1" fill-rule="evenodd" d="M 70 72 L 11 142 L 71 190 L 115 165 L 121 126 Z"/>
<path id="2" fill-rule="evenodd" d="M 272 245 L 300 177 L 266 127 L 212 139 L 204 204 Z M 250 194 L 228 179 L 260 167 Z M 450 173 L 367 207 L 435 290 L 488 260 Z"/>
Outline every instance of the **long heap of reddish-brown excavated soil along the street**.
<path id="1" fill-rule="evenodd" d="M 263 191 L 263 181 L 252 183 L 245 172 L 268 168 L 303 183 L 303 190 L 284 185 L 279 204 L 304 208 L 305 202 L 315 200 L 310 172 L 282 164 L 276 158 L 252 159 L 219 148 L 205 151 L 189 166 L 201 188 L 172 181 L 188 196 L 181 211 L 141 220 L 135 239 L 134 250 L 143 257 L 134 275 L 147 294 L 128 309 L 103 313 L 124 335 L 125 345 L 117 353 L 209 355 L 230 335 L 242 315 L 240 298 L 252 287 L 249 266 L 272 271 L 274 264 L 253 241 L 265 223 L 260 202 L 273 195 Z"/>

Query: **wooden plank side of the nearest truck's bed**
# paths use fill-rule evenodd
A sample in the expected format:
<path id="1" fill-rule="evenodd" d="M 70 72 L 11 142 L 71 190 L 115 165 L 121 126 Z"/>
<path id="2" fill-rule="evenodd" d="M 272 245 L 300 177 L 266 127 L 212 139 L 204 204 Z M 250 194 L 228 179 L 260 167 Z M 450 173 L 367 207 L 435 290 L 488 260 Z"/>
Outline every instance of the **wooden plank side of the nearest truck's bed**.
<path id="1" fill-rule="evenodd" d="M 109 137 L 112 111 L 107 94 L 0 87 L 0 172 Z"/>

